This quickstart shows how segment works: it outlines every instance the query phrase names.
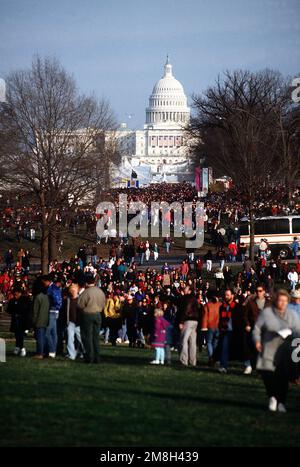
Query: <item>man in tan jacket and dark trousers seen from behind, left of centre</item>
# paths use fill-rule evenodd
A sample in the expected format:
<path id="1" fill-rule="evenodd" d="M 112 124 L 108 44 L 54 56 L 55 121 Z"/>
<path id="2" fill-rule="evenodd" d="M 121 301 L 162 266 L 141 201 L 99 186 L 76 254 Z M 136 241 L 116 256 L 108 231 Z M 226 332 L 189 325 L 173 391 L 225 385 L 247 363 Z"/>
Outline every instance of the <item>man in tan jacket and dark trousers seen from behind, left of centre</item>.
<path id="1" fill-rule="evenodd" d="M 101 313 L 104 310 L 106 299 L 104 292 L 96 287 L 93 275 L 87 274 L 85 280 L 86 289 L 78 298 L 81 312 L 80 332 L 85 350 L 84 358 L 86 363 L 99 363 Z"/>

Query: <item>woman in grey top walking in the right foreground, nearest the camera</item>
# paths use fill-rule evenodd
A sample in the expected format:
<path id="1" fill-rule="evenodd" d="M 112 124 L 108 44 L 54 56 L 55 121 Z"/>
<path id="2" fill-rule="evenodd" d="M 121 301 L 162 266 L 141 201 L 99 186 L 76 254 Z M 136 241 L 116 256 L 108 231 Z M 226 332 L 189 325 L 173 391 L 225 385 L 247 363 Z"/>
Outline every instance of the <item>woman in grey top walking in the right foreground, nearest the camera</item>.
<path id="1" fill-rule="evenodd" d="M 272 306 L 260 313 L 253 332 L 259 353 L 256 368 L 261 372 L 271 412 L 286 412 L 292 350 L 289 339 L 300 337 L 300 321 L 288 304 L 288 292 L 278 290 Z"/>

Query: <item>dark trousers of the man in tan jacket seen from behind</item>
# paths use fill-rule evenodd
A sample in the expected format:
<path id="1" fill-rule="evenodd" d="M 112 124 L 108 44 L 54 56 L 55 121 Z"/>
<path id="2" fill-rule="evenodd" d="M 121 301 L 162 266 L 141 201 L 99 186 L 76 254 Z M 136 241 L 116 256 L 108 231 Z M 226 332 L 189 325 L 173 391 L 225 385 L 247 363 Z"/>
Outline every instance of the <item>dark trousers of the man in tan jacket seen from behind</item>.
<path id="1" fill-rule="evenodd" d="M 99 363 L 100 361 L 100 328 L 100 313 L 82 314 L 80 323 L 80 333 L 82 344 L 85 349 L 84 358 L 87 363 Z"/>

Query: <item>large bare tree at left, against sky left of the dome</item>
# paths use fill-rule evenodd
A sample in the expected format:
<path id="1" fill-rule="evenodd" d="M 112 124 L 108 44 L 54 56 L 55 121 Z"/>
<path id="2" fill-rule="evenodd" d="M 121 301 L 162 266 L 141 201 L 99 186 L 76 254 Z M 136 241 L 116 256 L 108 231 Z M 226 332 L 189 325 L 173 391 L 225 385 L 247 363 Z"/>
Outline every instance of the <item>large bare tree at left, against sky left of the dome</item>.
<path id="1" fill-rule="evenodd" d="M 114 128 L 114 116 L 106 100 L 80 95 L 57 60 L 37 57 L 30 69 L 7 77 L 2 121 L 13 142 L 5 151 L 4 178 L 14 189 L 35 195 L 46 272 L 56 255 L 59 209 L 94 193 L 95 171 L 107 162 L 105 146 L 95 148 L 105 131 Z"/>

